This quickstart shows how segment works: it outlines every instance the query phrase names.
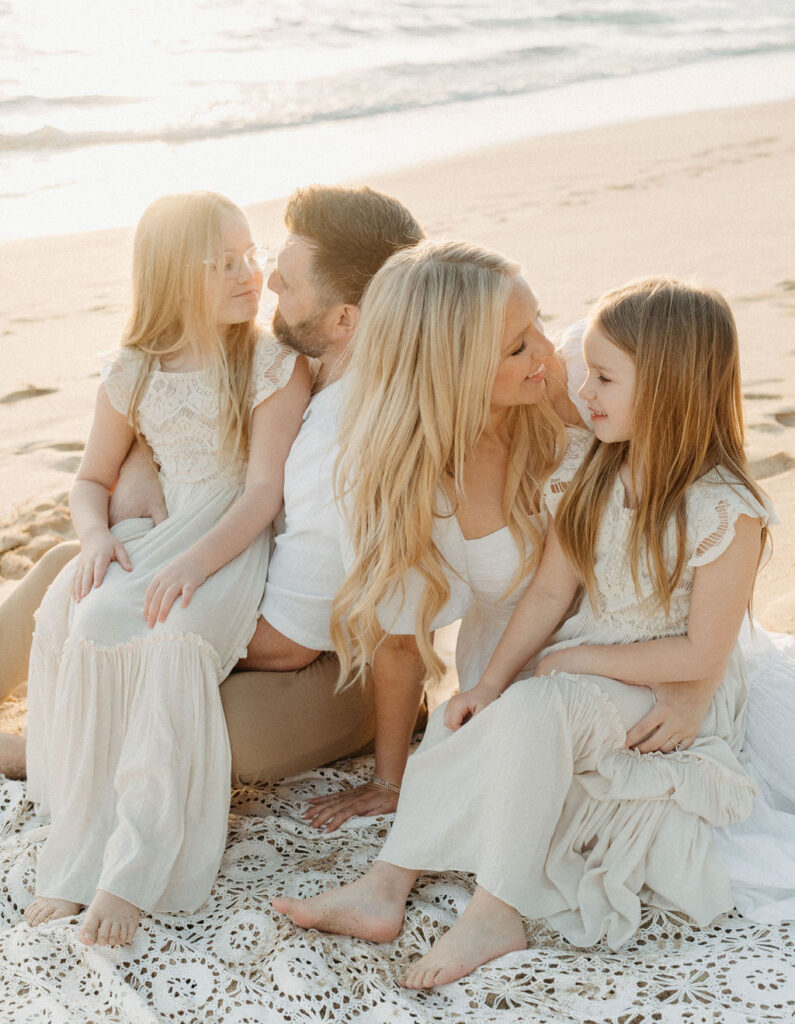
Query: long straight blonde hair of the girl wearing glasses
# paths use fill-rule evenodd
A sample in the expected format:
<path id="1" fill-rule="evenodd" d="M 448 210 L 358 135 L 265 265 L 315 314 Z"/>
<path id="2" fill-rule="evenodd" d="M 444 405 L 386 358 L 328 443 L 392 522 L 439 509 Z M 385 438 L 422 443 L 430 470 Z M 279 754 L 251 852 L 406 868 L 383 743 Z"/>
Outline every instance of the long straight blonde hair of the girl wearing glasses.
<path id="1" fill-rule="evenodd" d="M 245 459 L 255 319 L 219 328 L 216 301 L 207 287 L 222 273 L 222 220 L 243 211 L 212 191 L 163 196 L 144 210 L 135 231 L 132 311 L 122 344 L 143 353 L 127 417 L 138 433 L 136 412 L 159 360 L 197 342 L 218 381 L 221 451 Z"/>

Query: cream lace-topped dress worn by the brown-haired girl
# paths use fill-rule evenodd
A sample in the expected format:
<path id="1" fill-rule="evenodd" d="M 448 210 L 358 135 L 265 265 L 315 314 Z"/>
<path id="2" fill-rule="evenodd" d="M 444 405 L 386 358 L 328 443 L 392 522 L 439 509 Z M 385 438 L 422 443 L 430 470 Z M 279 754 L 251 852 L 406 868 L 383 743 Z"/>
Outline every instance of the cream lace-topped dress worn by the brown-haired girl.
<path id="1" fill-rule="evenodd" d="M 550 480 L 552 513 L 578 463 L 572 453 Z M 617 481 L 597 544 L 598 607 L 584 599 L 547 649 L 682 634 L 695 569 L 726 549 L 738 516 L 768 517 L 717 470 L 693 485 L 687 512 L 687 567 L 666 616 L 635 594 L 624 555 L 633 513 Z M 647 578 L 641 590 L 651 595 Z M 706 925 L 734 903 L 713 826 L 743 820 L 753 803 L 740 753 L 746 697 L 736 651 L 693 746 L 651 755 L 622 750 L 651 691 L 601 677 L 519 679 L 455 733 L 438 709 L 409 759 L 379 859 L 471 871 L 575 945 L 622 945 L 641 896 Z"/>

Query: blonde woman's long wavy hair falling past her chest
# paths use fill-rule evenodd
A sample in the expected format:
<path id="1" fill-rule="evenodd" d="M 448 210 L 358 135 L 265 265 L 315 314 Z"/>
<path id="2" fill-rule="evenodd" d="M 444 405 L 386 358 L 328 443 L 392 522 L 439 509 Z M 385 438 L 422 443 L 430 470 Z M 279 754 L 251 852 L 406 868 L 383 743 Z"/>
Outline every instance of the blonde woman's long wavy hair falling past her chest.
<path id="1" fill-rule="evenodd" d="M 502 358 L 505 304 L 517 264 L 463 243 L 421 242 L 393 255 L 362 303 L 339 434 L 338 498 L 346 508 L 354 561 L 332 607 L 340 681 L 363 678 L 384 632 L 378 605 L 401 593 L 409 569 L 425 587 L 415 636 L 426 672 L 444 670 L 430 625 L 450 596 L 433 519 L 462 495 L 464 460 L 490 417 Z M 503 509 L 525 562 L 539 557 L 540 487 L 564 447 L 546 402 L 510 410 Z"/>

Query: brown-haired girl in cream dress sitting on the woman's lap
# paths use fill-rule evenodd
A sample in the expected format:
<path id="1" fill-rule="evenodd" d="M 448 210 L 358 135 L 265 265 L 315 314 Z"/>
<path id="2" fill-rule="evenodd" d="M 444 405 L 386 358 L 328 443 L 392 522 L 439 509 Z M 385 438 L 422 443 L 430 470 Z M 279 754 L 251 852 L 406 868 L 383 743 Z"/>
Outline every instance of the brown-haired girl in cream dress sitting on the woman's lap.
<path id="1" fill-rule="evenodd" d="M 370 871 L 276 902 L 305 927 L 384 941 L 422 871 L 473 872 L 408 987 L 524 949 L 522 914 L 616 948 L 641 895 L 701 924 L 733 905 L 712 830 L 753 802 L 735 645 L 770 515 L 743 451 L 734 319 L 715 293 L 647 280 L 598 303 L 584 349 L 595 439 L 545 487 L 541 562 L 479 682 L 431 718 Z M 627 748 L 651 687 L 704 681 L 696 734 Z"/>

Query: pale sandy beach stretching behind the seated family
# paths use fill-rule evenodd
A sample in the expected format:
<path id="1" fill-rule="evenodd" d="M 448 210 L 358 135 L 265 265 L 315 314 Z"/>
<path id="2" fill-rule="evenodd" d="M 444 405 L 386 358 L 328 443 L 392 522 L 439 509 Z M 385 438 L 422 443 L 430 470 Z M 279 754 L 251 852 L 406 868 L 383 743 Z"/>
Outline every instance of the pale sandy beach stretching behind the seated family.
<path id="1" fill-rule="evenodd" d="M 431 237 L 468 239 L 521 262 L 552 334 L 601 292 L 647 273 L 721 291 L 740 332 L 749 458 L 784 515 L 795 507 L 795 224 L 781 197 L 795 177 L 794 114 L 795 100 L 782 100 L 624 121 L 366 180 L 405 202 Z M 247 206 L 255 239 L 279 243 L 283 206 Z M 129 227 L 0 243 L 0 522 L 70 485 L 90 426 L 96 355 L 118 345 L 124 327 L 131 243 Z M 793 631 L 795 527 L 776 535 L 757 613 Z M 0 581 L 0 599 L 8 587 Z"/>

